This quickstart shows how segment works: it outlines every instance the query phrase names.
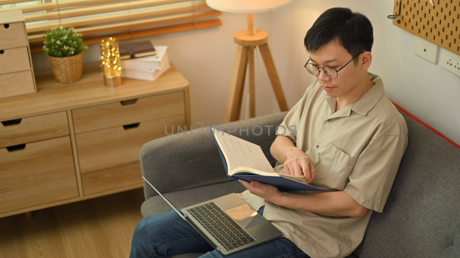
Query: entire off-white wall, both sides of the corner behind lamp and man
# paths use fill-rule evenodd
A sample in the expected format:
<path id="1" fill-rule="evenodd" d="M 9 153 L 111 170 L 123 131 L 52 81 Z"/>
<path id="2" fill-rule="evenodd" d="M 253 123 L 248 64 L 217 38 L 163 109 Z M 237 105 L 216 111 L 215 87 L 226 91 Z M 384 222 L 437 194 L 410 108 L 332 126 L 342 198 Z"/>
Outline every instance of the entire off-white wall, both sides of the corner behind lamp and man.
<path id="1" fill-rule="evenodd" d="M 328 8 L 343 6 L 362 11 L 374 26 L 369 71 L 382 77 L 391 100 L 460 143 L 460 78 L 414 55 L 416 36 L 386 18 L 393 10 L 392 4 L 380 0 L 293 0 L 275 11 L 255 14 L 255 27 L 269 33 L 270 49 L 288 106 L 292 107 L 315 79 L 303 67 L 308 60 L 303 45 L 307 30 Z M 236 54 L 233 33 L 247 24 L 244 14 L 223 13 L 220 19 L 223 25 L 217 28 L 149 38 L 155 45 L 169 46 L 171 61 L 189 80 L 192 124 L 224 122 Z M 256 115 L 261 116 L 279 108 L 260 53 L 256 53 Z M 91 46 L 83 57 L 84 62 L 98 61 L 98 46 Z M 43 53 L 34 54 L 32 59 L 36 70 L 49 68 Z M 241 118 L 248 117 L 247 93 L 245 85 Z"/>

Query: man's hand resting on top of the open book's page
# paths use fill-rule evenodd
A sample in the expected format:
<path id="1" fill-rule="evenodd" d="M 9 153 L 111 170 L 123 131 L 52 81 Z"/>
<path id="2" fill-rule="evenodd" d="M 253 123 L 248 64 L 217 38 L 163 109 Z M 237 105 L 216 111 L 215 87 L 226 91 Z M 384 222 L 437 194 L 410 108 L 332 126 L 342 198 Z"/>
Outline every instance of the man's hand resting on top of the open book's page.
<path id="1" fill-rule="evenodd" d="M 305 176 L 307 183 L 315 179 L 315 168 L 311 163 L 310 158 L 305 155 L 305 152 L 297 147 L 289 148 L 286 161 L 284 164 L 284 172 L 287 175 Z"/>

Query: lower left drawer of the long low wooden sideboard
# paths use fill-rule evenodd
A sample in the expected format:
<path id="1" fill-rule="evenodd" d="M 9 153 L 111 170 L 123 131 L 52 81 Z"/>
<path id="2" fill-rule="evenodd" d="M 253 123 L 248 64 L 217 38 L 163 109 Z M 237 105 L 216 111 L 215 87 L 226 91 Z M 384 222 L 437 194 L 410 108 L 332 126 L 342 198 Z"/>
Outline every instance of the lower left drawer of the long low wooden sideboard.
<path id="1" fill-rule="evenodd" d="M 0 213 L 78 196 L 70 137 L 0 148 Z"/>

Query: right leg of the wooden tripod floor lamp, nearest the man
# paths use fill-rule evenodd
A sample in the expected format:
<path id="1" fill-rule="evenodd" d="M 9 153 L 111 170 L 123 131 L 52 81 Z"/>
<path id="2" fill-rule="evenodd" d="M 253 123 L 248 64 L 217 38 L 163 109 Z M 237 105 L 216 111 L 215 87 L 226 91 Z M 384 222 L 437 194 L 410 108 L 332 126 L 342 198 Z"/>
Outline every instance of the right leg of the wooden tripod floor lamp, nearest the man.
<path id="1" fill-rule="evenodd" d="M 281 81 L 278 77 L 278 73 L 276 72 L 275 63 L 273 62 L 273 58 L 271 56 L 268 44 L 265 43 L 259 45 L 259 50 L 260 54 L 262 55 L 262 59 L 264 60 L 265 68 L 267 69 L 271 86 L 273 87 L 273 91 L 275 92 L 276 100 L 278 101 L 278 106 L 280 107 L 281 111 L 288 111 L 288 103 L 286 102 L 286 97 L 284 96 Z"/>

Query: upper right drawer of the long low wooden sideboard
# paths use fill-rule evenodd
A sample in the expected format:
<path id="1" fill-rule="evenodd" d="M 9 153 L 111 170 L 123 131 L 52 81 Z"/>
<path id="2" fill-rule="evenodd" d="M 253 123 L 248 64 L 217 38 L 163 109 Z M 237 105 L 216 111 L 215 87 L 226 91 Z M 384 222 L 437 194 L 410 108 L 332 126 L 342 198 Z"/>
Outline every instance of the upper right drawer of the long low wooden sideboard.
<path id="1" fill-rule="evenodd" d="M 72 110 L 76 134 L 184 114 L 184 91 Z"/>

